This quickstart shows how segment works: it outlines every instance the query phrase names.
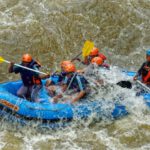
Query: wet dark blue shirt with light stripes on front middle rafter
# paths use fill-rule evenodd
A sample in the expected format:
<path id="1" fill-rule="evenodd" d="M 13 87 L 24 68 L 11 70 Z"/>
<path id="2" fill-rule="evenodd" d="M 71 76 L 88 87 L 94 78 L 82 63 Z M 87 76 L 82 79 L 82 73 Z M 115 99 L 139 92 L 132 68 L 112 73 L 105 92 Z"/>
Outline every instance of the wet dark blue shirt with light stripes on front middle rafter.
<path id="1" fill-rule="evenodd" d="M 86 89 L 88 81 L 82 75 L 78 75 L 75 73 L 72 74 L 70 78 L 65 77 L 63 83 L 69 86 L 69 89 L 73 89 L 80 92 Z"/>

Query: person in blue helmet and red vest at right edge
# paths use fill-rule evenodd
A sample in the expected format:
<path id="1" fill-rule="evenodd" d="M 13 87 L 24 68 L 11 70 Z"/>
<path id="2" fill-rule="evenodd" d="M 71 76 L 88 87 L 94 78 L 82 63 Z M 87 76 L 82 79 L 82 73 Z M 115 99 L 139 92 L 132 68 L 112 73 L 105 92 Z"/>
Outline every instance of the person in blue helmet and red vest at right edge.
<path id="1" fill-rule="evenodd" d="M 144 84 L 150 86 L 150 49 L 146 51 L 146 61 L 142 64 L 133 79 L 137 80 L 138 77 L 142 78 Z"/>

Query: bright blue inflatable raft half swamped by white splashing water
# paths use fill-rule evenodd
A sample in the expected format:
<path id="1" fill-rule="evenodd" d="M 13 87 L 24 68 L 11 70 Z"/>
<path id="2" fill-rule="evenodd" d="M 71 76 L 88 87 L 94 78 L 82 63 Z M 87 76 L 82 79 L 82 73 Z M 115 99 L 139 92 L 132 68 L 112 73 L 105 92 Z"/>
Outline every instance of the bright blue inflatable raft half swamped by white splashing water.
<path id="1" fill-rule="evenodd" d="M 134 72 L 126 72 L 128 76 L 133 76 Z M 53 77 L 57 82 L 57 77 Z M 45 81 L 43 81 L 44 83 Z M 88 118 L 95 114 L 99 118 L 119 118 L 128 114 L 126 107 L 117 102 L 107 102 L 103 100 L 83 100 L 75 105 L 49 102 L 49 95 L 46 90 L 41 90 L 40 103 L 30 102 L 23 98 L 18 98 L 16 92 L 22 85 L 21 81 L 6 82 L 0 84 L 0 111 L 1 115 L 9 113 L 24 120 L 58 121 Z M 146 104 L 150 107 L 150 94 L 143 94 Z M 111 110 L 104 110 L 103 106 L 111 106 Z"/>

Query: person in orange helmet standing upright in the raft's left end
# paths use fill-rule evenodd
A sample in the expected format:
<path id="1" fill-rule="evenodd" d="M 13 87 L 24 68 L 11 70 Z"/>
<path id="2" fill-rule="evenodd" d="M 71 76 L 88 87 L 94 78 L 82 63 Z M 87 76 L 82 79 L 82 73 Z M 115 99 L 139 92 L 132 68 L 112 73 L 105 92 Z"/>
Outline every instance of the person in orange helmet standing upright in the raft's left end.
<path id="1" fill-rule="evenodd" d="M 22 56 L 21 66 L 25 66 L 34 70 L 39 70 L 41 65 L 32 59 L 30 54 L 24 54 Z M 41 79 L 48 78 L 49 75 L 40 75 L 39 73 L 15 66 L 11 63 L 9 66 L 9 73 L 20 73 L 23 85 L 17 91 L 17 95 L 22 98 L 31 99 L 32 101 L 38 101 L 38 93 L 42 88 Z"/>

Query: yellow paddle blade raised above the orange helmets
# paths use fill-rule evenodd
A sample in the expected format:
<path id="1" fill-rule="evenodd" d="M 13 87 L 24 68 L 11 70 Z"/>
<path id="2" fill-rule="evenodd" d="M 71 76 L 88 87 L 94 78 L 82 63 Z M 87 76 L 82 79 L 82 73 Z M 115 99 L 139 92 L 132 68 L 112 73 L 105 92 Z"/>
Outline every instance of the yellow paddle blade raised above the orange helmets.
<path id="1" fill-rule="evenodd" d="M 91 41 L 86 41 L 84 43 L 84 46 L 82 48 L 82 57 L 86 57 L 90 54 L 91 50 L 93 49 L 94 47 L 94 43 L 91 42 Z"/>

